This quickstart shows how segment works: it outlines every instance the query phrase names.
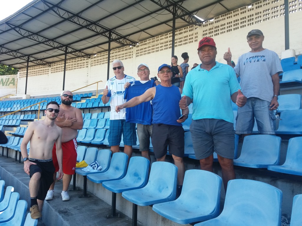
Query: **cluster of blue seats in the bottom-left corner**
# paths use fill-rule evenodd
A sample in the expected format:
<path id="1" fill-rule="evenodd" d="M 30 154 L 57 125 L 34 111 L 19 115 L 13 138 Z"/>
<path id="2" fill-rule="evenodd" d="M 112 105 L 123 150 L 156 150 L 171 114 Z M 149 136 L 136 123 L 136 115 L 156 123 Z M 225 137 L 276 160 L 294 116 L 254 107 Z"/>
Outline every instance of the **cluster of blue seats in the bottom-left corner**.
<path id="1" fill-rule="evenodd" d="M 5 181 L 0 180 L 0 226 L 36 226 L 38 219 L 32 219 L 27 212 L 27 202 L 19 200 L 20 195 L 14 187 L 7 186 L 4 194 Z"/>

